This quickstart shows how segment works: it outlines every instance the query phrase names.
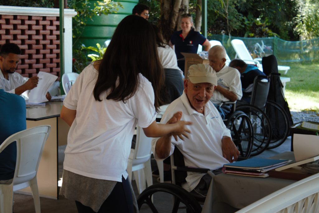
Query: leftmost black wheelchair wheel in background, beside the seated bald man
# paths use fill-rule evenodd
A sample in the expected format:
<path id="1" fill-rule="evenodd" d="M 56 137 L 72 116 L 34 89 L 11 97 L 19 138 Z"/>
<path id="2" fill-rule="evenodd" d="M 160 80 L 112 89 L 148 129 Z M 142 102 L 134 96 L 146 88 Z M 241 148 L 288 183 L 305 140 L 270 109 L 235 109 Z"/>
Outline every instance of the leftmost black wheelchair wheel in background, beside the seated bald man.
<path id="1" fill-rule="evenodd" d="M 254 131 L 249 117 L 242 111 L 235 111 L 228 118 L 226 126 L 230 129 L 232 139 L 240 155 L 248 158 L 254 142 Z"/>

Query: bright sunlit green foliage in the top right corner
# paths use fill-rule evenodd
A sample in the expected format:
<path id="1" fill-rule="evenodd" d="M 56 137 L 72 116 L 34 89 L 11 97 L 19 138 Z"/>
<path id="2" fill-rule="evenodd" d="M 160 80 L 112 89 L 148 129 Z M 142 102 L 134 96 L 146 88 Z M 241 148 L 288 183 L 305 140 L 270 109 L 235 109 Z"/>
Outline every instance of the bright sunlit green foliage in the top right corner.
<path id="1" fill-rule="evenodd" d="M 319 37 L 319 1 L 298 0 L 299 10 L 294 18 L 296 23 L 295 31 L 303 39 Z"/>

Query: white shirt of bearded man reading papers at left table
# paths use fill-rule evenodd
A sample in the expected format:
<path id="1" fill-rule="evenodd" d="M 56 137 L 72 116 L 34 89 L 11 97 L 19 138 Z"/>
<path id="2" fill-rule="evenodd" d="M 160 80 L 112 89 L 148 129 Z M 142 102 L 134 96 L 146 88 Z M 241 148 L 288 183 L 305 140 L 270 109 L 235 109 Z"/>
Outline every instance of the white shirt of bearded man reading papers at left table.
<path id="1" fill-rule="evenodd" d="M 8 93 L 15 94 L 15 89 L 26 83 L 26 81 L 23 79 L 23 76 L 18 72 L 9 73 L 8 78 L 9 80 L 4 78 L 0 69 L 0 88 L 3 88 L 4 91 Z"/>

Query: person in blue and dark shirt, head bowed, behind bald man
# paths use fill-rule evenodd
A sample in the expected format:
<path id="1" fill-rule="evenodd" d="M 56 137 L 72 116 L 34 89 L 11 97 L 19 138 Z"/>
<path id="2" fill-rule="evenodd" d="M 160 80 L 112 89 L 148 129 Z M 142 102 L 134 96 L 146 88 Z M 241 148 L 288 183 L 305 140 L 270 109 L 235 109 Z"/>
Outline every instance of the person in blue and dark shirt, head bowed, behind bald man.
<path id="1" fill-rule="evenodd" d="M 243 103 L 250 103 L 251 92 L 253 90 L 254 79 L 258 75 L 264 75 L 262 71 L 260 71 L 254 65 L 248 65 L 241 59 L 233 59 L 229 65 L 230 67 L 236 68 L 241 73 L 241 88 L 243 92 L 243 97 L 240 101 L 237 101 L 236 105 Z"/>

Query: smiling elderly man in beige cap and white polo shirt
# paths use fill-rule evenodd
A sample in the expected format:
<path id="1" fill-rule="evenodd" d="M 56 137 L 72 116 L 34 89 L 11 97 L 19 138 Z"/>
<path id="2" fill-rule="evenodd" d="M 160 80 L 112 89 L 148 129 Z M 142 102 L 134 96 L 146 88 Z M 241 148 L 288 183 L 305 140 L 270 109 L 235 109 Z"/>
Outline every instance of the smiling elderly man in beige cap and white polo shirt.
<path id="1" fill-rule="evenodd" d="M 187 80 L 184 80 L 184 92 L 166 109 L 161 123 L 170 123 L 182 119 L 191 121 L 189 138 L 182 141 L 166 135 L 152 140 L 152 151 L 156 160 L 164 160 L 174 152 L 174 146 L 184 156 L 185 166 L 217 170 L 224 164 L 237 160 L 239 151 L 234 145 L 230 130 L 226 128 L 218 110 L 209 101 L 217 86 L 216 72 L 203 64 L 191 65 Z M 180 112 L 174 119 L 176 112 Z M 187 191 L 199 195 L 207 193 L 209 175 L 188 172 L 182 185 Z"/>

